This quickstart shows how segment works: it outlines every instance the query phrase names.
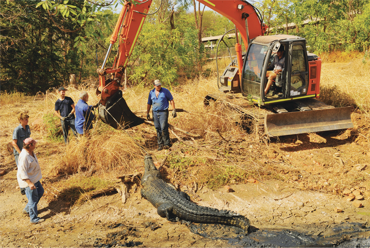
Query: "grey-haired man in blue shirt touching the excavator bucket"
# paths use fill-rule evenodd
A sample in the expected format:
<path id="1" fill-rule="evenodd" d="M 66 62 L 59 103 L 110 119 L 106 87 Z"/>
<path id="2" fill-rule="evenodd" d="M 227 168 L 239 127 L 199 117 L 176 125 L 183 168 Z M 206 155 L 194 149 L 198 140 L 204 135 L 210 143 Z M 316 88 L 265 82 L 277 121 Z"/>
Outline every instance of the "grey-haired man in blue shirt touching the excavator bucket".
<path id="1" fill-rule="evenodd" d="M 94 108 L 98 105 L 89 106 L 89 95 L 86 91 L 79 94 L 80 100 L 76 104 L 76 130 L 80 135 L 86 135 L 89 129 L 92 129 L 92 121 L 95 120 Z"/>

